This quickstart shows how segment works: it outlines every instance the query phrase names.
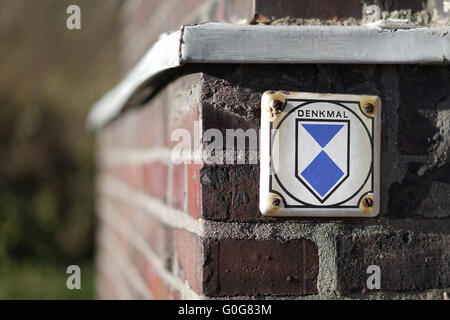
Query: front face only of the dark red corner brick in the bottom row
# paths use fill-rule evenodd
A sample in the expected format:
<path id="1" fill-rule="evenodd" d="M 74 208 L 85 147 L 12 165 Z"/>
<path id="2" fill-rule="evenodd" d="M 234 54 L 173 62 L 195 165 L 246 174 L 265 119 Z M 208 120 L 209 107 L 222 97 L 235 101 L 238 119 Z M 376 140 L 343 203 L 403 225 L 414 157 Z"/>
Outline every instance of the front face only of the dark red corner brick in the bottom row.
<path id="1" fill-rule="evenodd" d="M 219 259 L 220 296 L 317 294 L 319 256 L 312 241 L 224 239 Z"/>

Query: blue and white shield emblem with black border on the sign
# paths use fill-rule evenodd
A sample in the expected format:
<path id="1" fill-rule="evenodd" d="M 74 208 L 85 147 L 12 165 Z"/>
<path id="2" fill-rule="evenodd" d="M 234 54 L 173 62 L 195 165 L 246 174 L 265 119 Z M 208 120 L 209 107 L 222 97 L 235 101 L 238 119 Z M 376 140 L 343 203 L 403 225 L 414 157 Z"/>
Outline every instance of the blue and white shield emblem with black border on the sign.
<path id="1" fill-rule="evenodd" d="M 324 203 L 350 172 L 350 121 L 297 119 L 295 176 Z"/>

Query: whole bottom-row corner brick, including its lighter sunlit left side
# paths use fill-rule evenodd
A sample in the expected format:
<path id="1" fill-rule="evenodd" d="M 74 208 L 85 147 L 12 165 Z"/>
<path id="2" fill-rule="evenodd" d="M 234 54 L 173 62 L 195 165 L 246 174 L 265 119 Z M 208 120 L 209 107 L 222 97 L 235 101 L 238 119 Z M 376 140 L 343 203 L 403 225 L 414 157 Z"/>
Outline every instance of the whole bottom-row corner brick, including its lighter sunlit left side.
<path id="1" fill-rule="evenodd" d="M 199 294 L 317 294 L 318 249 L 310 240 L 214 240 L 176 230 L 174 243 L 182 277 Z"/>

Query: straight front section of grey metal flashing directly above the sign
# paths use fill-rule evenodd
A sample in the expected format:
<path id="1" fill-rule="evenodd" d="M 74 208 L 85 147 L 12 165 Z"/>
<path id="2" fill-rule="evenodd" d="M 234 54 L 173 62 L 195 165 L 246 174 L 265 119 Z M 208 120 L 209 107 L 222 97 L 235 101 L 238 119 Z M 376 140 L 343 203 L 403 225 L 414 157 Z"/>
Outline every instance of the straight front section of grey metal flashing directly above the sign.
<path id="1" fill-rule="evenodd" d="M 182 62 L 189 63 L 442 63 L 450 28 L 387 30 L 374 26 L 186 27 Z"/>

